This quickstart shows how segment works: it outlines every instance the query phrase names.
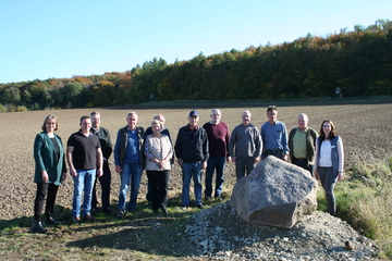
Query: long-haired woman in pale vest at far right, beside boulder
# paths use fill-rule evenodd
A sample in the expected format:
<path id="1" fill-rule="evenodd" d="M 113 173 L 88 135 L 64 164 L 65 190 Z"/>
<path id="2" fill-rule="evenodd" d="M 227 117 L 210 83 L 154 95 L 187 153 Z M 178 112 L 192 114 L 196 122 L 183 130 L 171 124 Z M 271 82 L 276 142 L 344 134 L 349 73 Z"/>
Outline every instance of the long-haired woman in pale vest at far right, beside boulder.
<path id="1" fill-rule="evenodd" d="M 336 214 L 333 188 L 343 179 L 344 152 L 342 138 L 335 135 L 333 122 L 324 120 L 316 140 L 315 177 L 320 179 L 328 204 L 328 212 Z"/>

